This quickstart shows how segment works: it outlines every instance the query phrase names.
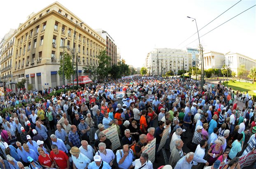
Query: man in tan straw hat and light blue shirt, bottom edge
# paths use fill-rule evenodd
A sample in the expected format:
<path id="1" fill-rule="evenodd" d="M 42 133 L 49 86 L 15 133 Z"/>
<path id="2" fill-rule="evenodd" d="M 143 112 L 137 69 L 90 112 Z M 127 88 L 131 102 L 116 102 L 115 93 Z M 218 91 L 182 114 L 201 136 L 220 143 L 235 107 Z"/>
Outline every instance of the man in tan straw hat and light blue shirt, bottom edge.
<path id="1" fill-rule="evenodd" d="M 81 153 L 76 146 L 73 146 L 71 148 L 70 154 L 73 160 L 74 169 L 85 169 L 91 162 L 91 160 L 88 157 L 86 157 L 86 155 Z"/>

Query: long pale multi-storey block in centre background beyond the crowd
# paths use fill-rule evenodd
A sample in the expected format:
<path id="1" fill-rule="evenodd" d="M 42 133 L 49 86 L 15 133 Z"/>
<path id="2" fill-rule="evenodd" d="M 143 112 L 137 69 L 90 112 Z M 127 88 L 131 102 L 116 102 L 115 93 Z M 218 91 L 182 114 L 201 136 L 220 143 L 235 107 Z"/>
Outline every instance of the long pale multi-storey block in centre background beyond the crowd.
<path id="1" fill-rule="evenodd" d="M 179 49 L 154 49 L 147 54 L 145 59 L 145 67 L 151 75 L 165 74 L 169 70 L 177 74 L 178 70 L 183 70 L 183 63 L 184 70 L 189 70 L 192 66 L 192 54 Z"/>

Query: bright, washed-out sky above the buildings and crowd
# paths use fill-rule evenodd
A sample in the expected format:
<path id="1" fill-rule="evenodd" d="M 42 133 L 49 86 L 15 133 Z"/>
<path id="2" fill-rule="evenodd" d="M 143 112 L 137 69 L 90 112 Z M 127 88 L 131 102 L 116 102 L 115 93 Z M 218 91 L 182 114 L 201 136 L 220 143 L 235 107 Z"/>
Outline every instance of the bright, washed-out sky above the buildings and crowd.
<path id="1" fill-rule="evenodd" d="M 59 0 L 93 29 L 102 28 L 114 39 L 127 64 L 142 67 L 147 53 L 154 48 L 197 47 L 198 29 L 219 16 L 239 0 Z M 2 38 L 17 28 L 32 12 L 37 13 L 54 0 L 4 0 L 1 2 Z M 199 35 L 226 22 L 256 4 L 242 0 L 225 14 L 199 31 Z M 184 40 L 187 41 L 182 43 Z M 256 59 L 256 7 L 230 20 L 200 38 L 204 50 L 237 52 Z M 182 43 L 181 45 L 179 45 Z M 189 44 L 191 43 L 191 44 Z"/>

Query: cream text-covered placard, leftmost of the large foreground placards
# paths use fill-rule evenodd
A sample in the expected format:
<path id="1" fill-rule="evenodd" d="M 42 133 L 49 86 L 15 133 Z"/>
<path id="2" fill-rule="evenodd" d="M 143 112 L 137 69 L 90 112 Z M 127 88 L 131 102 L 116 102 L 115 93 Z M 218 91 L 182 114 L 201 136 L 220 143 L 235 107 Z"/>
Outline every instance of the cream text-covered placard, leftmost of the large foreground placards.
<path id="1" fill-rule="evenodd" d="M 111 126 L 102 132 L 105 133 L 106 137 L 112 142 L 112 150 L 118 149 L 121 146 L 116 125 Z"/>

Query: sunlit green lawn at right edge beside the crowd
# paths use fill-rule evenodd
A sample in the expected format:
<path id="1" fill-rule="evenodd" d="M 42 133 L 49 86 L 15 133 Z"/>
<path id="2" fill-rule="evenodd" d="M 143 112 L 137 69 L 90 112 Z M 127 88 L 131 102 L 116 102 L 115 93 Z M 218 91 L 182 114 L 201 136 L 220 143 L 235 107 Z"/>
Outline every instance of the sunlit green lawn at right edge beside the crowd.
<path id="1" fill-rule="evenodd" d="M 233 90 L 240 90 L 241 92 L 248 91 L 251 95 L 256 95 L 254 90 L 256 90 L 256 83 L 246 83 L 239 81 L 228 81 L 228 87 L 231 87 Z"/>

